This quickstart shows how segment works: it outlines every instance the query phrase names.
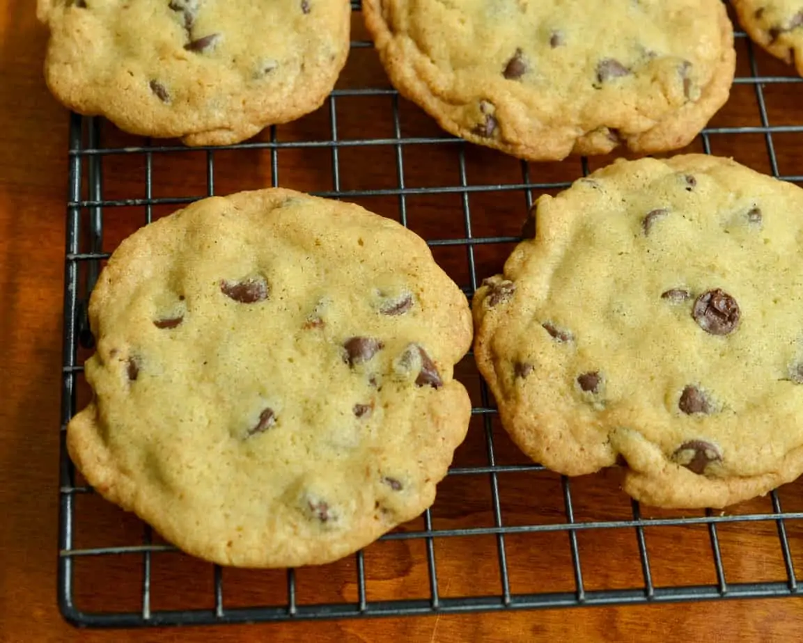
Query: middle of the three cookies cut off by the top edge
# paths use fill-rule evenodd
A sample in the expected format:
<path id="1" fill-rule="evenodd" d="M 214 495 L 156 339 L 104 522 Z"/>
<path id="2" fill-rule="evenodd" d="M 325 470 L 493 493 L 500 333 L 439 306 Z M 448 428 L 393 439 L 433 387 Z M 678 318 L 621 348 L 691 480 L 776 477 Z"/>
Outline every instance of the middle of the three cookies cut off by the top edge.
<path id="1" fill-rule="evenodd" d="M 398 91 L 447 132 L 532 161 L 677 149 L 728 99 L 721 0 L 364 0 Z"/>

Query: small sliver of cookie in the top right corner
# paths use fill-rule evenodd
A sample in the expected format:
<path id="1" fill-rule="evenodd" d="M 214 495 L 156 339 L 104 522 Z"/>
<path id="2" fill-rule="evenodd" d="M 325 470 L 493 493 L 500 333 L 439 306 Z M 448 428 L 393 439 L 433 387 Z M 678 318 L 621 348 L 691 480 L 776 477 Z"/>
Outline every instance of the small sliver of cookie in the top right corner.
<path id="1" fill-rule="evenodd" d="M 741 26 L 754 43 L 803 75 L 803 2 L 731 0 Z"/>

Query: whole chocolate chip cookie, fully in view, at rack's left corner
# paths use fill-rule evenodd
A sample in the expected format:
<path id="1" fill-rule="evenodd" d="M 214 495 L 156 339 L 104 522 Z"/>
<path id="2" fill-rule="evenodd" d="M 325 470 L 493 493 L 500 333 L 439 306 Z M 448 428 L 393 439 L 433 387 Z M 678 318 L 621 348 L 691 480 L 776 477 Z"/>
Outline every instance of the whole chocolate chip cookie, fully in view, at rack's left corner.
<path id="1" fill-rule="evenodd" d="M 67 447 L 100 494 L 218 564 L 336 560 L 434 502 L 471 404 L 463 292 L 359 206 L 198 201 L 112 255 Z"/>

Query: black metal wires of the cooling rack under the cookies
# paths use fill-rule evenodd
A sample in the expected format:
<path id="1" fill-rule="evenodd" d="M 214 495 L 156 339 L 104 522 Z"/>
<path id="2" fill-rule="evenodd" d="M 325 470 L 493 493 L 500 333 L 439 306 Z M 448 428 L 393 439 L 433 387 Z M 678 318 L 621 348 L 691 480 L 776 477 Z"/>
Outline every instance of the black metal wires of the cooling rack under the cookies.
<path id="1" fill-rule="evenodd" d="M 358 0 L 353 6 L 359 9 Z M 744 39 L 744 33 L 737 33 L 737 38 Z M 371 47 L 369 42 L 354 42 L 353 47 Z M 764 136 L 768 153 L 769 167 L 777 177 L 788 181 L 803 181 L 803 176 L 781 176 L 778 160 L 773 144 L 773 134 L 786 132 L 803 132 L 803 125 L 771 125 L 768 109 L 764 100 L 764 87 L 772 83 L 803 83 L 803 79 L 785 75 L 760 75 L 752 45 L 747 43 L 750 59 L 750 74 L 736 78 L 736 84 L 752 86 L 755 90 L 760 112 L 760 126 L 708 128 L 702 134 L 703 151 L 710 153 L 711 137 L 739 136 L 743 134 L 759 134 Z M 801 85 L 803 89 L 803 85 Z M 359 140 L 341 140 L 338 137 L 336 101 L 346 96 L 386 96 L 393 109 L 394 136 L 390 138 L 365 138 Z M 473 192 L 513 190 L 524 194 L 526 205 L 532 205 L 532 193 L 546 189 L 559 189 L 569 185 L 569 181 L 539 183 L 531 181 L 528 164 L 521 163 L 521 181 L 505 185 L 470 185 L 467 181 L 466 144 L 451 136 L 438 137 L 403 137 L 399 118 L 399 98 L 393 89 L 350 89 L 332 92 L 328 100 L 331 123 L 331 136 L 326 140 L 282 141 L 277 136 L 276 128 L 271 128 L 270 140 L 251 141 L 230 145 L 225 148 L 208 148 L 206 150 L 206 192 L 215 192 L 215 153 L 218 150 L 267 149 L 271 156 L 272 185 L 279 184 L 278 154 L 284 149 L 328 149 L 332 155 L 332 189 L 317 192 L 322 196 L 343 197 L 345 199 L 385 195 L 397 197 L 401 222 L 407 225 L 407 197 L 427 193 L 457 193 L 462 200 L 462 215 L 465 235 L 463 238 L 430 238 L 430 246 L 463 246 L 467 252 L 470 269 L 469 283 L 462 284 L 467 295 L 471 295 L 478 280 L 484 275 L 475 271 L 475 248 L 479 244 L 510 243 L 518 240 L 515 236 L 487 237 L 472 234 L 472 215 L 469 195 Z M 442 185 L 433 188 L 412 188 L 405 184 L 405 169 L 402 150 L 411 145 L 448 144 L 453 146 L 454 154 L 459 162 L 458 185 Z M 397 186 L 390 189 L 342 190 L 340 189 L 340 151 L 349 146 L 389 146 L 395 151 L 397 168 Z M 355 570 L 357 573 L 357 600 L 354 602 L 302 604 L 297 600 L 296 572 L 287 570 L 287 602 L 279 606 L 238 606 L 227 607 L 225 603 L 226 589 L 222 582 L 221 568 L 214 566 L 214 607 L 198 609 L 182 609 L 160 611 L 151 608 L 152 588 L 152 556 L 162 551 L 172 551 L 173 547 L 165 544 L 154 544 L 149 527 L 145 526 L 142 542 L 137 546 L 108 547 L 74 547 L 75 502 L 82 494 L 91 494 L 87 486 L 76 485 L 75 470 L 67 456 L 64 446 L 67 422 L 75 413 L 77 378 L 83 370 L 79 360 L 79 346 L 89 348 L 92 335 L 89 332 L 85 313 L 88 292 L 95 283 L 100 269 L 100 262 L 108 258 L 103 251 L 104 210 L 120 206 L 139 206 L 144 212 L 141 223 L 150 222 L 153 208 L 163 205 L 181 205 L 193 201 L 197 197 L 154 198 L 153 191 L 153 159 L 161 153 L 182 153 L 181 145 L 155 146 L 147 141 L 141 147 L 106 148 L 100 144 L 100 121 L 94 118 L 71 116 L 69 140 L 69 197 L 67 202 L 67 254 L 66 280 L 64 290 L 64 333 L 63 333 L 63 389 L 62 389 L 62 425 L 61 425 L 61 459 L 60 459 L 60 518 L 59 518 L 59 606 L 64 617 L 75 625 L 124 627 L 141 625 L 202 625 L 221 623 L 242 623 L 255 621 L 298 621 L 307 619 L 326 619 L 336 617 L 380 617 L 380 616 L 412 616 L 447 612 L 470 612 L 481 610 L 510 610 L 523 608 L 566 607 L 602 604 L 642 604 L 662 603 L 681 600 L 706 600 L 721 598 L 744 598 L 761 596 L 796 596 L 799 592 L 797 574 L 794 568 L 793 555 L 790 551 L 787 536 L 787 523 L 803 519 L 803 512 L 783 511 L 781 498 L 772 492 L 772 511 L 755 512 L 746 515 L 715 515 L 707 511 L 705 515 L 696 517 L 644 518 L 638 503 L 632 502 L 632 517 L 616 520 L 582 521 L 575 518 L 572 483 L 569 478 L 561 478 L 562 503 L 565 519 L 557 523 L 535 523 L 527 525 L 506 525 L 503 522 L 503 511 L 499 499 L 499 478 L 506 474 L 539 472 L 543 467 L 535 464 L 503 465 L 497 464 L 495 454 L 495 432 L 493 416 L 495 409 L 491 405 L 487 388 L 481 383 L 482 404 L 473 409 L 475 417 L 482 420 L 487 464 L 483 466 L 453 467 L 450 476 L 487 476 L 491 486 L 491 503 L 493 526 L 435 529 L 430 510 L 423 516 L 423 529 L 417 531 L 393 531 L 382 540 L 422 539 L 426 543 L 426 569 L 428 587 L 422 587 L 419 599 L 369 600 L 366 593 L 366 564 L 364 553 L 356 554 Z M 197 150 L 197 149 L 196 149 Z M 202 149 L 204 150 L 204 149 Z M 109 155 L 137 155 L 145 159 L 145 176 L 143 193 L 139 197 L 124 199 L 105 199 L 103 196 L 102 168 L 104 157 Z M 588 173 L 588 162 L 582 159 L 578 163 L 578 176 Z M 524 213 L 524 203 L 522 204 Z M 775 582 L 739 582 L 726 580 L 726 572 L 720 553 L 718 526 L 727 523 L 743 523 L 744 528 L 756 523 L 774 524 L 777 529 L 777 544 L 785 568 L 785 580 Z M 650 554 L 646 544 L 646 529 L 654 527 L 691 527 L 703 525 L 707 527 L 711 545 L 711 556 L 715 568 L 716 582 L 707 585 L 684 586 L 683 584 L 660 585 L 654 583 L 650 564 Z M 633 530 L 638 543 L 638 556 L 642 572 L 642 583 L 633 588 L 587 589 L 583 580 L 583 567 L 578 547 L 578 535 L 584 531 L 624 529 Z M 571 552 L 571 568 L 566 573 L 573 576 L 574 588 L 567 592 L 528 592 L 516 593 L 511 590 L 508 573 L 506 536 L 525 533 L 565 533 Z M 489 535 L 495 537 L 495 548 L 498 555 L 499 588 L 498 594 L 482 596 L 442 596 L 438 591 L 438 572 L 435 563 L 435 543 L 440 539 L 448 539 L 471 535 Z M 137 610 L 120 611 L 84 611 L 75 604 L 73 592 L 75 561 L 82 557 L 92 556 L 109 559 L 116 556 L 141 556 L 142 583 L 141 605 Z"/>

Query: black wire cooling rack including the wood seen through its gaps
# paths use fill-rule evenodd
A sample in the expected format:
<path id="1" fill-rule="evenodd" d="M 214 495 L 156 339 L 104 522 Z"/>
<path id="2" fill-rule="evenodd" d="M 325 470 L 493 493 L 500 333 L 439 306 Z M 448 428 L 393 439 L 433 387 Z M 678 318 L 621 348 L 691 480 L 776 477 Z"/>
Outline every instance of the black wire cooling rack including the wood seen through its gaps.
<path id="1" fill-rule="evenodd" d="M 355 35 L 364 36 L 355 18 Z M 803 110 L 795 122 L 793 109 L 801 79 L 753 51 L 744 34 L 737 45 L 728 105 L 739 107 L 726 105 L 690 149 L 801 182 L 794 162 Z M 71 116 L 58 576 L 67 620 L 202 625 L 797 595 L 797 484 L 728 513 L 681 513 L 639 507 L 606 473 L 551 474 L 509 442 L 471 356 L 456 368 L 474 401 L 471 428 L 434 507 L 340 563 L 267 571 L 205 564 L 81 480 L 64 431 L 88 401 L 86 301 L 105 259 L 138 226 L 224 189 L 281 183 L 396 217 L 471 295 L 519 240 L 534 196 L 610 161 L 528 164 L 465 144 L 389 88 L 367 39 L 353 42 L 349 66 L 346 87 L 339 83 L 316 114 L 225 148 L 154 144 Z M 435 165 L 443 172 L 433 175 Z M 285 168 L 302 177 L 297 185 L 283 181 Z M 100 591 L 99 580 L 112 580 L 113 591 Z"/>

